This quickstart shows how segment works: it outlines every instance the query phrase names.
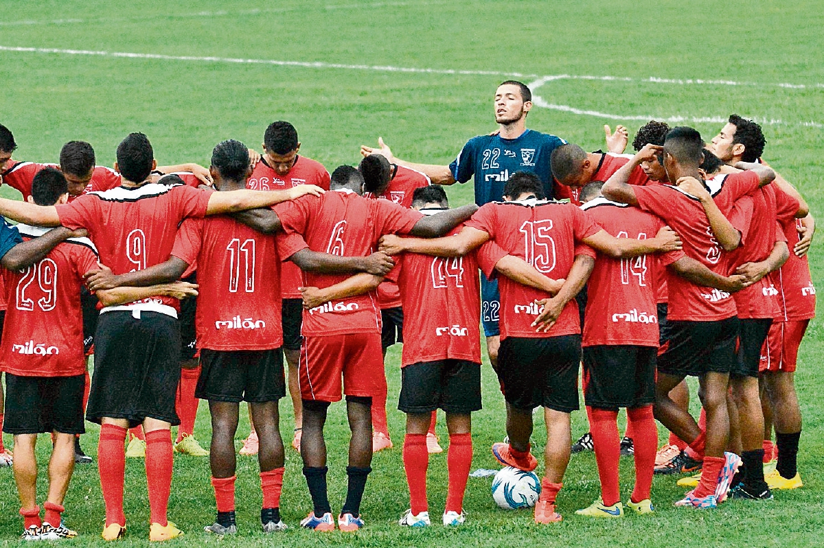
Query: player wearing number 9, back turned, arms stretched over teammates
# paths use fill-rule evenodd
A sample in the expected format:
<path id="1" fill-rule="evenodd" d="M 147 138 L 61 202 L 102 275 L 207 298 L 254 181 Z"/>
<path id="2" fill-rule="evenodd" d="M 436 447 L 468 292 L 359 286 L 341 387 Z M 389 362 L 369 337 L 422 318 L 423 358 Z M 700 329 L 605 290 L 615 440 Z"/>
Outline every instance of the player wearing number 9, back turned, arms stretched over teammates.
<path id="1" fill-rule="evenodd" d="M 0 199 L 0 214 L 42 226 L 85 228 L 101 262 L 115 274 L 141 270 L 169 257 L 176 228 L 186 217 L 265 207 L 303 193 L 311 185 L 283 192 L 237 190 L 208 193 L 185 185 L 148 183 L 156 166 L 143 133 L 131 133 L 117 149 L 118 188 L 89 193 L 58 207 Z M 143 424 L 151 507 L 150 540 L 180 535 L 166 519 L 171 489 L 171 432 L 177 424 L 175 390 L 180 378 L 177 300 L 161 297 L 105 307 L 97 327 L 95 374 L 87 420 L 101 424 L 98 462 L 106 503 L 103 536 L 125 532 L 124 440 L 129 426 Z"/>

